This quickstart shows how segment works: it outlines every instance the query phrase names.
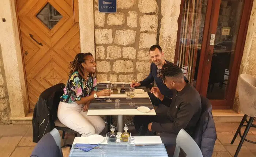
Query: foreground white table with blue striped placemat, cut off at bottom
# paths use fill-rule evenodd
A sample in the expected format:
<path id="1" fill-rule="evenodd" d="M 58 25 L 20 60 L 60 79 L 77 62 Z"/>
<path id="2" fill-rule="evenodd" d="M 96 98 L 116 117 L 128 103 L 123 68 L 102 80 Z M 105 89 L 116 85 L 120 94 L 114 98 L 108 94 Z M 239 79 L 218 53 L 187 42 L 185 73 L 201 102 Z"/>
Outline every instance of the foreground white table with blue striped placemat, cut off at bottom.
<path id="1" fill-rule="evenodd" d="M 135 136 L 135 144 L 147 144 L 146 146 L 134 146 L 128 148 L 126 143 L 107 143 L 107 138 L 104 138 L 102 143 L 99 143 L 101 149 L 92 149 L 89 152 L 83 152 L 79 149 L 74 149 L 76 143 L 88 144 L 88 137 L 76 137 L 69 157 L 99 157 L 100 150 L 105 150 L 108 157 L 168 157 L 165 146 L 161 138 L 158 136 L 139 137 Z"/>

